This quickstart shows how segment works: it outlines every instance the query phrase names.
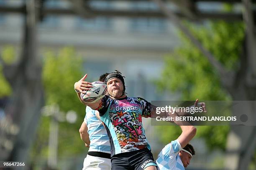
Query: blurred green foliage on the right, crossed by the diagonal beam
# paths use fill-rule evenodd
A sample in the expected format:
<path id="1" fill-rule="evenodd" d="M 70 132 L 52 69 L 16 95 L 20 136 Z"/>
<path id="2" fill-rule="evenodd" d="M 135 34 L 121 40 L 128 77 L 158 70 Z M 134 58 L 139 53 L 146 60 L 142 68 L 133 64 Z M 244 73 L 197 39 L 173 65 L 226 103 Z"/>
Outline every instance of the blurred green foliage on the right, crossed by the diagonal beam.
<path id="1" fill-rule="evenodd" d="M 217 21 L 203 26 L 187 25 L 195 37 L 226 69 L 238 69 L 244 39 L 242 23 Z M 182 47 L 165 57 L 162 78 L 158 83 L 159 88 L 179 91 L 183 100 L 197 98 L 201 101 L 230 100 L 229 94 L 220 84 L 219 75 L 207 58 L 183 34 L 181 34 L 181 39 Z M 164 143 L 167 140 L 176 139 L 180 134 L 177 131 L 178 128 L 174 126 L 165 128 L 164 132 L 166 130 L 171 133 L 168 136 L 164 134 L 165 137 L 162 138 Z M 197 127 L 196 137 L 204 138 L 210 150 L 214 148 L 224 150 L 228 132 L 228 126 L 200 126 Z"/>

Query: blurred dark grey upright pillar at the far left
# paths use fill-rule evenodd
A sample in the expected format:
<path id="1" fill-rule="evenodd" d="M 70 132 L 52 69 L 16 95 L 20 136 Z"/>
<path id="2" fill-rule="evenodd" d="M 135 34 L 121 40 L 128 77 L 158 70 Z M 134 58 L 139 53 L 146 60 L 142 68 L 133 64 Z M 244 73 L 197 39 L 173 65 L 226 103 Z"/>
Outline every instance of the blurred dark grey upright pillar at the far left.
<path id="1" fill-rule="evenodd" d="M 16 66 L 4 68 L 4 74 L 13 88 L 5 112 L 18 126 L 17 135 L 10 136 L 13 149 L 3 160 L 26 162 L 28 151 L 36 134 L 40 109 L 44 104 L 41 82 L 41 61 L 36 54 L 36 0 L 26 0 L 23 51 Z M 8 150 L 5 150 L 8 152 Z"/>

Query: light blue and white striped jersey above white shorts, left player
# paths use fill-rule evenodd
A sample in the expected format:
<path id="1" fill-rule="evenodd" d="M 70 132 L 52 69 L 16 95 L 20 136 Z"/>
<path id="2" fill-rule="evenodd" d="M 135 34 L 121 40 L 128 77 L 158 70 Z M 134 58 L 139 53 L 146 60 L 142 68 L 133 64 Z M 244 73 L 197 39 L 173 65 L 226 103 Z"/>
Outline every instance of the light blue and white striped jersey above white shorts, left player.
<path id="1" fill-rule="evenodd" d="M 108 134 L 102 121 L 97 119 L 95 110 L 86 107 L 84 122 L 87 123 L 88 134 L 90 138 L 89 151 L 110 153 L 110 142 Z"/>

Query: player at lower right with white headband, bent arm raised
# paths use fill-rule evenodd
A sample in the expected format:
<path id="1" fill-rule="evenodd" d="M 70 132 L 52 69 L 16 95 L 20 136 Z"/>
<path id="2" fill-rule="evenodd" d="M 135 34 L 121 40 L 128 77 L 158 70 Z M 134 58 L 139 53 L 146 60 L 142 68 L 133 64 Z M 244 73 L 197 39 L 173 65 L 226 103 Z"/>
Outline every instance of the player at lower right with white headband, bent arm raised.
<path id="1" fill-rule="evenodd" d="M 195 101 L 197 106 L 198 99 Z M 200 103 L 205 108 L 205 103 Z M 205 110 L 206 111 L 206 110 Z M 159 153 L 156 163 L 158 170 L 184 170 L 189 165 L 195 150 L 188 144 L 196 134 L 196 128 L 188 122 L 174 121 L 182 129 L 182 134 L 177 140 L 172 141 Z"/>

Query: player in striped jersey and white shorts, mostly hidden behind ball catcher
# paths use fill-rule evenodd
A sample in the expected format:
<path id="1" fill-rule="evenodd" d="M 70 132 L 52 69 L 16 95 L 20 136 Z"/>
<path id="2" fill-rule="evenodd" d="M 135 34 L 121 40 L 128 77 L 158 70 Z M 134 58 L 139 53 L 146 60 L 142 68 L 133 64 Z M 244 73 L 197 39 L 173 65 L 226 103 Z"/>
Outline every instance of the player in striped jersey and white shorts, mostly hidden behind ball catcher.
<path id="1" fill-rule="evenodd" d="M 99 81 L 105 81 L 107 75 L 106 73 L 100 76 Z M 80 85 L 79 83 L 75 84 L 75 89 L 81 89 Z M 88 90 L 87 88 L 89 89 L 90 87 L 84 87 L 82 90 Z M 111 170 L 108 134 L 102 121 L 97 119 L 96 112 L 87 106 L 84 122 L 79 129 L 80 137 L 85 146 L 90 146 L 84 159 L 83 170 Z"/>

